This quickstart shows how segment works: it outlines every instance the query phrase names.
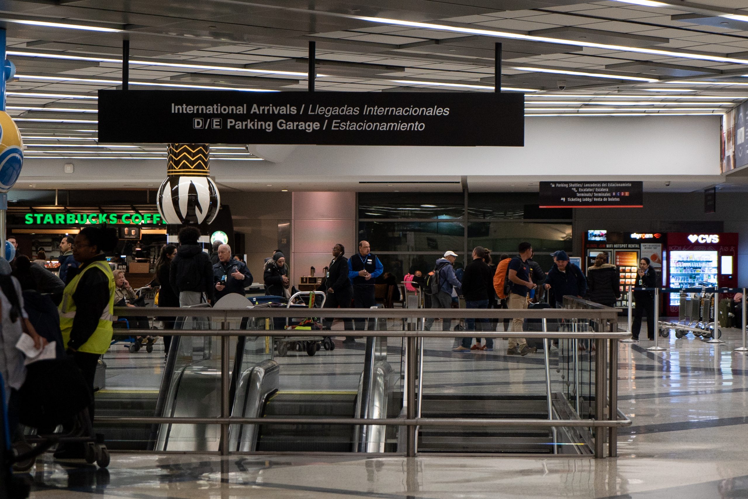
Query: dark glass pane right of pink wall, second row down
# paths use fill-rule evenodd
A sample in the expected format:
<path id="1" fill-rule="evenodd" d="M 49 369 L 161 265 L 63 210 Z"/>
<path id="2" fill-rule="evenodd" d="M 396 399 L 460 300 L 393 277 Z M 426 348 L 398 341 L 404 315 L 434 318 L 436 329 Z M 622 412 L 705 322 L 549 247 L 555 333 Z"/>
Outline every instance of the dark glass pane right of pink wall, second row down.
<path id="1" fill-rule="evenodd" d="M 360 222 L 359 239 L 369 241 L 372 252 L 462 250 L 462 222 Z"/>

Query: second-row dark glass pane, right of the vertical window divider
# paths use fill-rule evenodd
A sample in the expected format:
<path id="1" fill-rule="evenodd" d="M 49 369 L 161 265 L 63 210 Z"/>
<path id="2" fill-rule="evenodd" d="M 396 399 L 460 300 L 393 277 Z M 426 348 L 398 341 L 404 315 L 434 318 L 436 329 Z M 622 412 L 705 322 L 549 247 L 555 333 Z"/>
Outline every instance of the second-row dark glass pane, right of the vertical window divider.
<path id="1" fill-rule="evenodd" d="M 536 253 L 563 249 L 571 252 L 571 223 L 470 222 L 468 248 L 482 246 L 492 254 L 514 255 L 522 241 L 533 245 Z"/>

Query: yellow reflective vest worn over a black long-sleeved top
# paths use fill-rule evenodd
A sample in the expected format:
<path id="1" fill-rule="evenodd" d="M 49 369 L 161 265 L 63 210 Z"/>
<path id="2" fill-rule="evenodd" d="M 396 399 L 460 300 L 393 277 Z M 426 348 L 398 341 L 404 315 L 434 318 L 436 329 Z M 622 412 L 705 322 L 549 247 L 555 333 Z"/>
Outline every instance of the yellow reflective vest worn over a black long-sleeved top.
<path id="1" fill-rule="evenodd" d="M 62 302 L 59 306 L 60 329 L 62 331 L 62 339 L 67 348 L 67 343 L 70 341 L 70 332 L 73 331 L 73 319 L 76 317 L 76 302 L 73 300 L 73 294 L 76 292 L 76 288 L 78 288 L 78 283 L 81 282 L 83 274 L 92 268 L 98 268 L 108 277 L 109 301 L 106 308 L 102 310 L 101 317 L 99 317 L 99 325 L 96 326 L 91 338 L 88 338 L 88 341 L 82 344 L 78 351 L 103 354 L 109 350 L 111 335 L 114 331 L 111 323 L 117 318 L 114 317 L 114 274 L 111 273 L 111 268 L 106 261 L 92 261 L 81 271 L 81 273 L 73 277 L 67 286 L 65 286 L 65 291 L 63 291 L 62 294 Z"/>

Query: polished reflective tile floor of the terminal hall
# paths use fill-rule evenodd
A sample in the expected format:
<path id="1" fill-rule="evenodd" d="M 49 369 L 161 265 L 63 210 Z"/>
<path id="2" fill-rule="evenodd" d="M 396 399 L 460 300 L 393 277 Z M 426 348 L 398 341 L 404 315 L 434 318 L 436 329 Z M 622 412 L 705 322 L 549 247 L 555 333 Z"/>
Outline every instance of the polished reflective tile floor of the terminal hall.
<path id="1" fill-rule="evenodd" d="M 687 337 L 622 344 L 619 407 L 634 424 L 619 434 L 619 458 L 392 456 L 153 456 L 115 453 L 108 470 L 40 459 L 26 476 L 32 498 L 746 498 L 748 497 L 748 356 L 726 344 Z M 393 344 L 396 343 L 396 344 Z M 350 389 L 358 383 L 363 344 L 279 359 L 282 389 Z M 453 341 L 425 344 L 425 391 L 542 393 L 543 357 L 453 353 Z M 583 353 L 581 358 L 589 356 Z M 551 350 L 554 389 L 563 366 Z M 399 341 L 389 361 L 399 369 Z M 163 352 L 108 354 L 111 391 L 158 386 Z"/>

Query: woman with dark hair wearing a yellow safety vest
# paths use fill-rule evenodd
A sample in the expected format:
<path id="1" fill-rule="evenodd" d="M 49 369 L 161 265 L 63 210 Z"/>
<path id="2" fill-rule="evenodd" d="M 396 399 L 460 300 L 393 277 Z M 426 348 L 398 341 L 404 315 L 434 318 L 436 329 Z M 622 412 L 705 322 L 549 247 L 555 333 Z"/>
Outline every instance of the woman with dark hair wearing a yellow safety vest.
<path id="1" fill-rule="evenodd" d="M 73 258 L 80 267 L 70 278 L 59 306 L 60 329 L 67 354 L 93 391 L 99 357 L 109 349 L 114 320 L 114 275 L 104 252 L 117 245 L 112 229 L 85 227 L 73 242 Z M 93 406 L 89 409 L 93 421 Z"/>

